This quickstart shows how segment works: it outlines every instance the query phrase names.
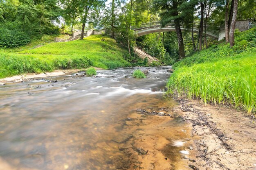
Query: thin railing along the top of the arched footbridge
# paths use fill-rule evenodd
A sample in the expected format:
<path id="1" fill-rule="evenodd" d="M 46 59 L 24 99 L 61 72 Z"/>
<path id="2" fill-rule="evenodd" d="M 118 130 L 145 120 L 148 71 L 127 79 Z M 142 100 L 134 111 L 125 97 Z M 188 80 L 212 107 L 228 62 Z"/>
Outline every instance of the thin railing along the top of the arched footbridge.
<path id="1" fill-rule="evenodd" d="M 137 30 L 141 30 L 141 29 L 156 28 L 156 27 L 161 27 L 161 26 L 162 26 L 162 22 L 161 21 L 147 22 L 147 23 L 140 24 L 138 27 L 131 26 L 131 30 L 137 31 Z M 191 24 L 191 26 L 192 26 L 192 24 Z M 172 20 L 171 22 L 165 24 L 164 27 L 175 27 L 174 21 Z M 186 28 L 186 26 L 183 24 L 183 22 L 180 22 L 180 27 Z M 200 27 L 200 22 L 194 22 L 193 27 L 194 28 L 199 28 Z M 213 23 L 207 23 L 206 28 L 209 31 L 219 31 L 220 26 L 216 26 Z"/>

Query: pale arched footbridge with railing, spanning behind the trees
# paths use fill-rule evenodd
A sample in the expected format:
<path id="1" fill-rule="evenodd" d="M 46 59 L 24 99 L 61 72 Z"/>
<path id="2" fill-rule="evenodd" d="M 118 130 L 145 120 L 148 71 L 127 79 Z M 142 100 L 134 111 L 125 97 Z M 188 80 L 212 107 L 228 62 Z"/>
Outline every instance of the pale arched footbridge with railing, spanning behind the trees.
<path id="1" fill-rule="evenodd" d="M 200 22 L 194 22 L 193 24 L 193 32 L 198 33 L 200 27 Z M 181 31 L 189 31 L 192 32 L 192 28 L 186 28 L 184 24 L 180 23 L 180 29 Z M 131 26 L 131 30 L 134 30 L 137 34 L 137 37 L 140 37 L 142 35 L 147 35 L 150 33 L 159 33 L 159 32 L 169 32 L 169 31 L 175 31 L 175 25 L 174 21 L 171 21 L 167 23 L 164 27 L 162 27 L 161 21 L 157 22 L 148 22 L 140 24 L 140 26 Z M 206 36 L 211 37 L 213 39 L 219 39 L 219 31 L 220 26 L 215 26 L 212 23 L 208 23 L 206 26 Z M 204 30 L 203 30 L 204 33 Z"/>

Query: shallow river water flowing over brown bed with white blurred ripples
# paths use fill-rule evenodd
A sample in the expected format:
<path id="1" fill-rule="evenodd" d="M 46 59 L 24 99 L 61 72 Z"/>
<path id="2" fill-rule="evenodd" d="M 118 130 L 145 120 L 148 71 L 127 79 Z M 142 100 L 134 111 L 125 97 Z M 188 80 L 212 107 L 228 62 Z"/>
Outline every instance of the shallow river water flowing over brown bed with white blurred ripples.
<path id="1" fill-rule="evenodd" d="M 0 170 L 188 168 L 184 122 L 151 114 L 177 105 L 162 98 L 168 67 L 136 69 L 0 86 Z"/>

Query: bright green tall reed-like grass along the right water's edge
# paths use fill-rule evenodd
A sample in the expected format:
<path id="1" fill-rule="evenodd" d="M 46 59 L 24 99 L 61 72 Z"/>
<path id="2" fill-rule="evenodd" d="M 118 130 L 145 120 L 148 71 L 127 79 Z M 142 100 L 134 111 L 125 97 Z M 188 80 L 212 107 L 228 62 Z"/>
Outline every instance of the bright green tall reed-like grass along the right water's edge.
<path id="1" fill-rule="evenodd" d="M 256 52 L 177 68 L 167 83 L 167 95 L 186 94 L 188 98 L 214 105 L 229 103 L 256 111 Z"/>

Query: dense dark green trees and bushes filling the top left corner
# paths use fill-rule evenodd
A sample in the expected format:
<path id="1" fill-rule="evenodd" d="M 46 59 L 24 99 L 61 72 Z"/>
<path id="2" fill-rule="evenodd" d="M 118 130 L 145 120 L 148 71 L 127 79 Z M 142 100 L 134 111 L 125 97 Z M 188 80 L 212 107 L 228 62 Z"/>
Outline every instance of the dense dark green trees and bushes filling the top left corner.
<path id="1" fill-rule="evenodd" d="M 0 0 L 0 47 L 27 44 L 43 34 L 57 34 L 57 0 Z"/>

